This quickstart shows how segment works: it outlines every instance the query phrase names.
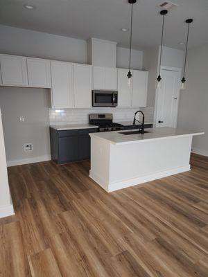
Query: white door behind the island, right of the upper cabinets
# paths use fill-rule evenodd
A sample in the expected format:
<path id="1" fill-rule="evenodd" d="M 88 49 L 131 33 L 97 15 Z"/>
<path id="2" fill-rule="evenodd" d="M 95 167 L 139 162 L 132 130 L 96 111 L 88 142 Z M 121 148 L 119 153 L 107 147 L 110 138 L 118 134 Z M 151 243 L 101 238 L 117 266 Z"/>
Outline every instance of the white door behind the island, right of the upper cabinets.
<path id="1" fill-rule="evenodd" d="M 162 86 L 157 90 L 156 127 L 176 127 L 180 74 L 180 70 L 162 69 Z"/>

